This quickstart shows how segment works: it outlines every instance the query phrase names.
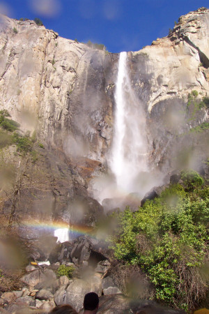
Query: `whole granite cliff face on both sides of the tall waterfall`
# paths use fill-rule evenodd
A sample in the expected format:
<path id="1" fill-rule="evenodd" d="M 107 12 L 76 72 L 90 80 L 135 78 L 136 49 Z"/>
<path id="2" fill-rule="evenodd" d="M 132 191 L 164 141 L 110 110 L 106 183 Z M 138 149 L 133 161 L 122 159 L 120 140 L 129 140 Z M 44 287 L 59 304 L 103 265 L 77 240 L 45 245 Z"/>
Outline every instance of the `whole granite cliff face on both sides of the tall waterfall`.
<path id="1" fill-rule="evenodd" d="M 169 36 L 128 53 L 146 117 L 148 165 L 163 176 L 182 166 L 197 169 L 208 158 L 208 130 L 196 131 L 208 121 L 207 105 L 196 105 L 209 95 L 208 34 L 209 10 L 201 8 L 180 17 Z M 107 172 L 117 71 L 118 54 L 61 38 L 33 21 L 1 17 L 0 109 L 24 132 L 36 130 L 45 145 L 36 167 L 47 169 L 51 214 L 70 210 L 77 195 L 92 197 L 92 179 Z M 188 105 L 194 90 L 199 95 Z M 43 197 L 40 188 L 36 193 Z"/>

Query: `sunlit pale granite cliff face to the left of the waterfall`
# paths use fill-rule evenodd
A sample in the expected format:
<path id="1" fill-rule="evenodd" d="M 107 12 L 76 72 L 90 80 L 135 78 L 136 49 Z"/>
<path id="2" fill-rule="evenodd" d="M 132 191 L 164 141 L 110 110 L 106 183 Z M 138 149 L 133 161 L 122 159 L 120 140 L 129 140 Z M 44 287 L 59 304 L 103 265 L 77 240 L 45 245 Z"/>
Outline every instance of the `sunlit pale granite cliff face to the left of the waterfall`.
<path id="1" fill-rule="evenodd" d="M 38 128 L 68 157 L 104 162 L 117 56 L 8 17 L 1 19 L 0 49 L 1 105 L 13 119 L 24 130 Z"/>

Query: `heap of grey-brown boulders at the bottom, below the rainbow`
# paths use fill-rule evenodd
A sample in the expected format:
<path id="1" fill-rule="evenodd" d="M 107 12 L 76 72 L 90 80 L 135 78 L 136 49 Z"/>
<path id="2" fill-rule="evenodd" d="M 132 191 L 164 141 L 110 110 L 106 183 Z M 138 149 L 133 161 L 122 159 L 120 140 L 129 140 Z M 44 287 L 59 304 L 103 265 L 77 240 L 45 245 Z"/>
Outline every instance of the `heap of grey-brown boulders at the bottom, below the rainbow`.
<path id="1" fill-rule="evenodd" d="M 60 304 L 70 304 L 83 313 L 84 295 L 88 292 L 96 292 L 100 297 L 98 313 L 126 313 L 130 308 L 137 309 L 133 312 L 137 313 L 141 308 L 157 308 L 154 302 L 145 300 L 131 303 L 122 294 L 111 276 L 109 251 L 102 241 L 82 236 L 57 244 L 49 260 L 50 265 L 32 262 L 26 266 L 20 279 L 24 287 L 1 294 L 0 313 L 49 313 Z M 61 265 L 73 267 L 72 278 L 58 276 Z M 156 311 L 181 313 L 167 308 Z"/>

